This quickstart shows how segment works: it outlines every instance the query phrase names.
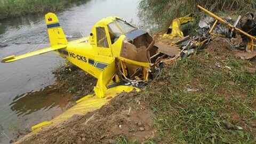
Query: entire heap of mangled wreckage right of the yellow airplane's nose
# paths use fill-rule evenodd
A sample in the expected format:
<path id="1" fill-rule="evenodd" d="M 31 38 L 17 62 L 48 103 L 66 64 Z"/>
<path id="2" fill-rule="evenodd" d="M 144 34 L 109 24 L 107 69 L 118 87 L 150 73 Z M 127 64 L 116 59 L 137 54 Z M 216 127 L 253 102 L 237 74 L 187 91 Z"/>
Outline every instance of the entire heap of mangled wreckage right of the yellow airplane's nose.
<path id="1" fill-rule="evenodd" d="M 187 16 L 174 19 L 165 34 L 156 36 L 154 47 L 156 47 L 157 52 L 154 57 L 151 57 L 155 59 L 155 63 L 172 63 L 184 55 L 194 53 L 196 49 L 204 48 L 214 38 L 225 41 L 231 51 L 235 49 L 253 51 L 254 40 L 256 39 L 253 36 L 256 35 L 256 21 L 254 20 L 256 15 L 254 13 L 246 13 L 244 17 L 239 15 L 237 19 L 233 20 L 230 17 L 220 18 L 202 6 L 197 6 L 210 17 L 204 17 L 200 20 L 194 36 L 184 36 L 180 30 L 182 25 L 194 22 L 194 18 Z M 242 59 L 256 57 L 254 52 L 248 55 L 243 51 L 240 51 L 237 57 Z"/>

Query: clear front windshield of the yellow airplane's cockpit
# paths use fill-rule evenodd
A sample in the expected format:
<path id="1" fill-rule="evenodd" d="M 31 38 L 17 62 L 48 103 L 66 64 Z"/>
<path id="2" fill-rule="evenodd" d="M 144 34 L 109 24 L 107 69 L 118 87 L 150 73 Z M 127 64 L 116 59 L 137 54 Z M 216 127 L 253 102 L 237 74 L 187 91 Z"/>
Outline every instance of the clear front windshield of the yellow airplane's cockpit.
<path id="1" fill-rule="evenodd" d="M 136 30 L 137 28 L 133 27 L 126 21 L 116 19 L 115 21 L 109 23 L 108 29 L 111 43 L 113 44 L 122 34 L 127 34 L 133 30 Z"/>

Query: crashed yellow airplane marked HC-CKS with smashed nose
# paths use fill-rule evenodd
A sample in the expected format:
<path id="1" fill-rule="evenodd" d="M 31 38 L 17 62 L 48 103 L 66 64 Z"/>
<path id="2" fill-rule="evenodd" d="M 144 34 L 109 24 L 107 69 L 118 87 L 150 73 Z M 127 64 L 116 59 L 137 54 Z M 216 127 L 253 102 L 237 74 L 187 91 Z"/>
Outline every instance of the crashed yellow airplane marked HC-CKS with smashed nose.
<path id="1" fill-rule="evenodd" d="M 68 42 L 54 13 L 45 15 L 51 47 L 22 55 L 11 55 L 1 62 L 13 62 L 37 54 L 54 51 L 98 79 L 95 95 L 130 91 L 125 81 L 147 81 L 150 63 L 156 54 L 154 39 L 145 30 L 117 18 L 103 18 L 92 28 L 90 36 Z"/>

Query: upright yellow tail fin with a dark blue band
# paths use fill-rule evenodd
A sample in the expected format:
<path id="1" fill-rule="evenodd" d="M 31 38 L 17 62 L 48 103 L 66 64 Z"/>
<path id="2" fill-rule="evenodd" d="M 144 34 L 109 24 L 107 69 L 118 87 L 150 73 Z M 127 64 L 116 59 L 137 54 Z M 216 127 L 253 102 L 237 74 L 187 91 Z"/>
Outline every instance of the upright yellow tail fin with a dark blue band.
<path id="1" fill-rule="evenodd" d="M 60 27 L 57 16 L 54 13 L 47 13 L 45 15 L 45 21 L 51 46 L 68 44 L 67 38 L 62 28 Z"/>

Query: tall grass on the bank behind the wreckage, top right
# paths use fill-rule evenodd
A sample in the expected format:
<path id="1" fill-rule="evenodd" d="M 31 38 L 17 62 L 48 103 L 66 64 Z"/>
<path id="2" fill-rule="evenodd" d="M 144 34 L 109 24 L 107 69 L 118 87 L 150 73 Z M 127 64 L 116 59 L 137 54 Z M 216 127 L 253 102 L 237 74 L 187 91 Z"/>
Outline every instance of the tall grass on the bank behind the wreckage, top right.
<path id="1" fill-rule="evenodd" d="M 197 4 L 213 12 L 256 8 L 256 0 L 141 0 L 139 16 L 149 26 L 165 26 L 175 17 L 197 13 Z"/>

